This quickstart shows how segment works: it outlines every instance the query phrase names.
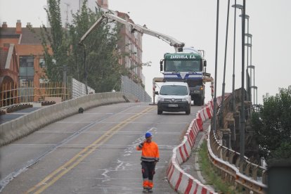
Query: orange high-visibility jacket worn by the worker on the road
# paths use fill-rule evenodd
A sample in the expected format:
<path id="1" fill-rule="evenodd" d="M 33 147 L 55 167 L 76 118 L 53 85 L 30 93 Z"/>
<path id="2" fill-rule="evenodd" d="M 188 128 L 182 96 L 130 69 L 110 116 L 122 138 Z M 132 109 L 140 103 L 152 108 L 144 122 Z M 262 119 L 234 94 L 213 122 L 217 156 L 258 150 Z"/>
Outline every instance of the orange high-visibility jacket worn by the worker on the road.
<path id="1" fill-rule="evenodd" d="M 155 162 L 160 160 L 159 148 L 154 141 L 144 142 L 143 145 L 136 146 L 136 150 L 141 150 L 141 161 Z"/>

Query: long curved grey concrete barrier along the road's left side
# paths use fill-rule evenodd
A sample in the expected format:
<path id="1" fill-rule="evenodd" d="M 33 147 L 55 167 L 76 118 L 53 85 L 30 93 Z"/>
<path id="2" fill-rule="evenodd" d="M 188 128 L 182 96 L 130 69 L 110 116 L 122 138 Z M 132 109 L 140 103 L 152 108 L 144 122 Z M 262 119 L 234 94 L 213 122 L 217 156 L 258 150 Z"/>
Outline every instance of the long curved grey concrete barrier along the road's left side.
<path id="1" fill-rule="evenodd" d="M 30 112 L 10 122 L 0 124 L 0 146 L 27 136 L 41 127 L 99 105 L 112 103 L 135 102 L 136 96 L 131 93 L 108 92 L 93 93 L 69 101 L 53 104 Z"/>

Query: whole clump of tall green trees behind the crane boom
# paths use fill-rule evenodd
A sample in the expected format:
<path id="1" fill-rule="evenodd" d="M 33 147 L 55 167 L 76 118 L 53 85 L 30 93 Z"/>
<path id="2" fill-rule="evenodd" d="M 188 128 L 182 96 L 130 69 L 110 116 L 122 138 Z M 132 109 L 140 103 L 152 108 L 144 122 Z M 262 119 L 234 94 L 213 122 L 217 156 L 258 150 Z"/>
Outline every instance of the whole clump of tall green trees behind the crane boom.
<path id="1" fill-rule="evenodd" d="M 79 45 L 79 39 L 103 13 L 94 13 L 86 8 L 83 1 L 82 10 L 72 15 L 72 24 L 63 28 L 60 20 L 60 0 L 49 0 L 46 9 L 51 29 L 42 27 L 41 41 L 44 48 L 46 75 L 52 81 L 62 80 L 61 67 L 66 65 L 72 76 L 80 82 L 87 83 L 96 92 L 119 91 L 121 75 L 128 70 L 119 65 L 122 53 L 116 46 L 119 27 L 116 23 L 101 24 Z M 51 46 L 52 54 L 48 46 Z"/>

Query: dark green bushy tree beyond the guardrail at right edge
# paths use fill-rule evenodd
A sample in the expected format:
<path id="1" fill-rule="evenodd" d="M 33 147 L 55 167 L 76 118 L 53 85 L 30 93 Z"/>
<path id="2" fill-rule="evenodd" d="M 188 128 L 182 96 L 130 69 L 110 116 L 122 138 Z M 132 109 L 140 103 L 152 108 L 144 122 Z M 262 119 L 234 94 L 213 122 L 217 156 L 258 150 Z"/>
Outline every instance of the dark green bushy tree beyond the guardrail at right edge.
<path id="1" fill-rule="evenodd" d="M 264 96 L 264 105 L 252 114 L 252 127 L 266 161 L 291 155 L 291 91 L 279 89 L 276 96 Z M 286 144 L 287 143 L 287 144 Z"/>

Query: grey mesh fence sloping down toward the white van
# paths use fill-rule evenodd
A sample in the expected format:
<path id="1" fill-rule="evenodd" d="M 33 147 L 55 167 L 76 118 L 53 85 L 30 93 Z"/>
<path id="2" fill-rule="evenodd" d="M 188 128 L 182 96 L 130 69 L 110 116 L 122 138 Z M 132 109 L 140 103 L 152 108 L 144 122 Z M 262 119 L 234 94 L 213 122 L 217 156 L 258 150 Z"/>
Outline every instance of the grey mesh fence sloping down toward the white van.
<path id="1" fill-rule="evenodd" d="M 137 101 L 151 102 L 152 98 L 146 93 L 142 86 L 136 84 L 128 77 L 122 76 L 121 91 L 124 93 L 132 93 L 137 97 Z"/>

